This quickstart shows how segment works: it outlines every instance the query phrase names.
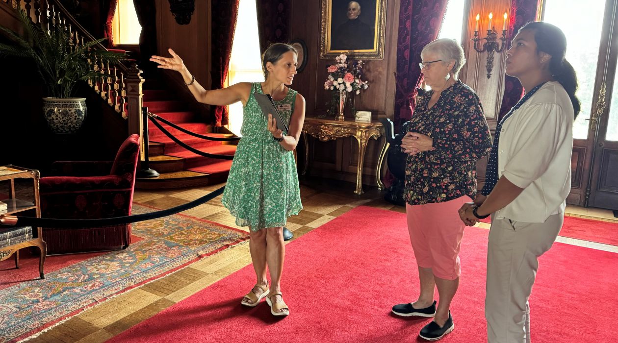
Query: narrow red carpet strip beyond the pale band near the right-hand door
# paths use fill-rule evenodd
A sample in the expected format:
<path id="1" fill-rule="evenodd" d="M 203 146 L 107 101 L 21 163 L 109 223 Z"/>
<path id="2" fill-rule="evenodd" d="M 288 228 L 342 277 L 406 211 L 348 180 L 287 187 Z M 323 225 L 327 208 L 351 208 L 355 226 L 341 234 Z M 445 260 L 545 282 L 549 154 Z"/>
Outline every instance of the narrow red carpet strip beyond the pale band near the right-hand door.
<path id="1" fill-rule="evenodd" d="M 491 223 L 491 218 L 481 221 Z M 559 235 L 618 246 L 618 223 L 565 216 Z"/>

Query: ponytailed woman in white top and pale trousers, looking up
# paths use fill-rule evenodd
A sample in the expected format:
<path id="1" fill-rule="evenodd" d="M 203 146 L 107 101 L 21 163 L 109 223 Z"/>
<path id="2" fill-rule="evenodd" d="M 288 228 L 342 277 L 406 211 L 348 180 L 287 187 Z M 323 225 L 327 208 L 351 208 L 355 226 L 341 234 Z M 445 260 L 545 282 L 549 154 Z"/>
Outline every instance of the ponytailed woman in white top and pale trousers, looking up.
<path id="1" fill-rule="evenodd" d="M 538 257 L 562 228 L 571 183 L 577 76 L 554 25 L 528 23 L 506 52 L 506 73 L 525 96 L 497 125 L 486 183 L 459 210 L 473 225 L 491 214 L 485 318 L 489 343 L 530 342 L 528 298 Z"/>

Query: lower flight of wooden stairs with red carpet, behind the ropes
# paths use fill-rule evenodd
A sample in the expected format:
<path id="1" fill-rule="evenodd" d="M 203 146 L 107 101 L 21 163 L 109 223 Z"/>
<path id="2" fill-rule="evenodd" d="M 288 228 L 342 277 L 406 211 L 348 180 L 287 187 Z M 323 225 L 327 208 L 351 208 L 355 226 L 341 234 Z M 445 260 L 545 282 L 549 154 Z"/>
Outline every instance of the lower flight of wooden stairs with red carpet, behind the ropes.
<path id="1" fill-rule="evenodd" d="M 188 109 L 186 102 L 179 101 L 174 93 L 158 81 L 146 80 L 143 89 L 143 105 L 153 114 L 193 133 L 217 138 L 234 137 L 234 134 L 213 133 L 213 126 L 203 123 L 195 112 Z M 200 151 L 219 155 L 234 155 L 236 151 L 234 142 L 208 141 L 185 134 L 169 125 L 161 125 L 174 137 Z M 136 188 L 195 187 L 227 180 L 231 160 L 211 159 L 187 151 L 150 122 L 148 136 L 150 167 L 161 175 L 156 178 L 138 178 Z"/>

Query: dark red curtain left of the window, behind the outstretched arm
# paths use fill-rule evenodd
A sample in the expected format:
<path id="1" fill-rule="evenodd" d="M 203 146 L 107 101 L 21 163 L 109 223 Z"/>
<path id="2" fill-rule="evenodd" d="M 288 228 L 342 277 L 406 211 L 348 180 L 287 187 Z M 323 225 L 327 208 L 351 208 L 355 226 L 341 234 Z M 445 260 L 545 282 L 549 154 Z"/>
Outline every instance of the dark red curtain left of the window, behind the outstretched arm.
<path id="1" fill-rule="evenodd" d="M 234 42 L 234 30 L 238 17 L 239 0 L 218 0 L 212 2 L 212 28 L 213 28 L 213 65 L 211 76 L 212 88 L 223 88 L 229 69 L 232 43 Z M 215 126 L 227 125 L 227 107 L 211 106 L 211 112 L 215 118 Z"/>

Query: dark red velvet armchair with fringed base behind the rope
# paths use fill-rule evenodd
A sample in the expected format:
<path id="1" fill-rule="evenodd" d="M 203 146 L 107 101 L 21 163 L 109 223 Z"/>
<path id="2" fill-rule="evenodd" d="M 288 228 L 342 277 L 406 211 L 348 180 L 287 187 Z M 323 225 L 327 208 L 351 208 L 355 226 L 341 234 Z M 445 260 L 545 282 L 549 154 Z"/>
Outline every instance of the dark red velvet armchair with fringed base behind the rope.
<path id="1" fill-rule="evenodd" d="M 140 136 L 132 134 L 114 162 L 54 162 L 56 175 L 40 179 L 41 217 L 99 219 L 131 214 Z M 125 249 L 131 225 L 43 228 L 48 254 Z"/>

